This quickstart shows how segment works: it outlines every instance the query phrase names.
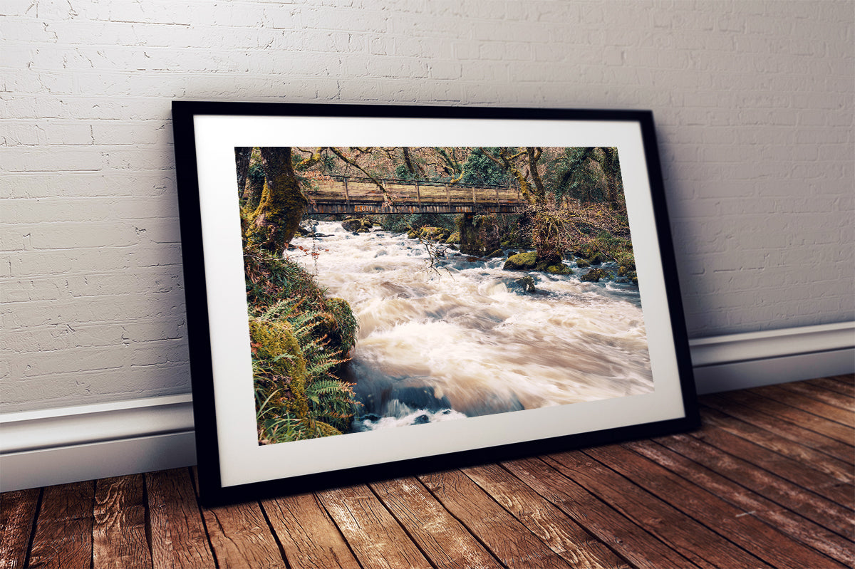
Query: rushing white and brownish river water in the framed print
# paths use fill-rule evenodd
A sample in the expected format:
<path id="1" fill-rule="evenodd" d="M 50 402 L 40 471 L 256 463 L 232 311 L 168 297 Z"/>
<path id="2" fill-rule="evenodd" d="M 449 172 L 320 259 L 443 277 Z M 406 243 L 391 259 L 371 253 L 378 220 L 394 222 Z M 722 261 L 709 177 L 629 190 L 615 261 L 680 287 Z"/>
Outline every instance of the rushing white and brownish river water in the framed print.
<path id="1" fill-rule="evenodd" d="M 412 425 L 652 391 L 637 287 L 531 273 L 505 259 L 446 257 L 392 232 L 319 222 L 291 255 L 345 298 L 359 322 L 349 373 L 364 404 L 355 430 Z M 453 250 L 448 255 L 455 254 Z M 574 264 L 569 264 L 575 268 Z"/>

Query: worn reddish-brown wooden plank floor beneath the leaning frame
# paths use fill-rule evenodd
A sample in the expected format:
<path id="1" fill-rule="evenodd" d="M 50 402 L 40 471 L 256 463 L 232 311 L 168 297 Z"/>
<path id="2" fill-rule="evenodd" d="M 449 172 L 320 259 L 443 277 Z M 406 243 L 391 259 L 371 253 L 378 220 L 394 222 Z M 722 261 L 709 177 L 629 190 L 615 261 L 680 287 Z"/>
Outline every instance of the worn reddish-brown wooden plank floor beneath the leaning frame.
<path id="1" fill-rule="evenodd" d="M 0 567 L 855 565 L 855 378 L 701 403 L 690 434 L 230 507 L 189 468 L 9 492 Z"/>

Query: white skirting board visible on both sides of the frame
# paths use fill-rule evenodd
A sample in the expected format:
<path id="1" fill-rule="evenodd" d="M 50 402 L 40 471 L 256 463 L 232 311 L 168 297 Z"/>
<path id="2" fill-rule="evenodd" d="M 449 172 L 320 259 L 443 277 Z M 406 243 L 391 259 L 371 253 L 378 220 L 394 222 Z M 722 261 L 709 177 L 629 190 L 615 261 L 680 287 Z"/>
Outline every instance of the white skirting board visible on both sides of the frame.
<path id="1" fill-rule="evenodd" d="M 855 322 L 689 342 L 699 394 L 855 372 Z M 0 491 L 196 464 L 190 394 L 0 414 Z"/>

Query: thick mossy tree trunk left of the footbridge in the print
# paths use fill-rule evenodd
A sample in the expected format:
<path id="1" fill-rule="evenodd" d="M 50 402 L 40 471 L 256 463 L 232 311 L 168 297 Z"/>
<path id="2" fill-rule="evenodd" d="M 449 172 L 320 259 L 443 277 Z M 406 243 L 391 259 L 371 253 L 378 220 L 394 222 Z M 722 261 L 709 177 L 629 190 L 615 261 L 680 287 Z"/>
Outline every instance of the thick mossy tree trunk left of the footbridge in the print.
<path id="1" fill-rule="evenodd" d="M 274 255 L 291 242 L 309 201 L 300 191 L 290 146 L 262 147 L 264 190 L 258 207 L 248 216 L 245 238 Z"/>

